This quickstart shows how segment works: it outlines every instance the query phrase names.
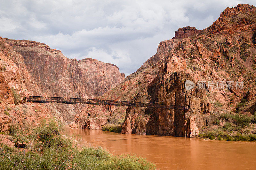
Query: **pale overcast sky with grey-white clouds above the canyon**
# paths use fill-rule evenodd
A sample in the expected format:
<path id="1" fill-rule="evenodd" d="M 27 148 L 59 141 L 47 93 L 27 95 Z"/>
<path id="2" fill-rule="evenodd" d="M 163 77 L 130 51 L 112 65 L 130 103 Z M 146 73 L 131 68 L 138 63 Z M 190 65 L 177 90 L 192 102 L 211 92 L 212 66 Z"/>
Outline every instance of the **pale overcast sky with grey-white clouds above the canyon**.
<path id="1" fill-rule="evenodd" d="M 227 7 L 255 0 L 0 0 L 0 36 L 33 40 L 68 58 L 116 64 L 126 76 L 184 26 L 204 29 Z"/>

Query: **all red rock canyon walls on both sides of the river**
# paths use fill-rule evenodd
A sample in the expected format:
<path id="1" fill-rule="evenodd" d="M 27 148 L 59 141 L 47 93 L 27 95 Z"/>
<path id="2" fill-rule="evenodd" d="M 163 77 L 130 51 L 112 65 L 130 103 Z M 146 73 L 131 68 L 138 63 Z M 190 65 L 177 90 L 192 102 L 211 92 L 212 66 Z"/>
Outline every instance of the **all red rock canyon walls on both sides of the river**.
<path id="1" fill-rule="evenodd" d="M 241 98 L 247 105 L 237 112 L 252 115 L 255 13 L 254 6 L 239 4 L 203 30 L 179 28 L 127 77 L 114 64 L 91 58 L 77 61 L 43 43 L 0 38 L 0 131 L 8 131 L 13 123 L 37 125 L 40 119 L 55 117 L 70 128 L 102 129 L 115 124 L 122 126 L 123 134 L 196 137 L 203 127 L 227 122 L 220 115 L 237 110 Z M 195 88 L 186 90 L 186 80 L 194 82 Z M 224 89 L 210 84 L 218 81 L 224 82 Z M 244 86 L 227 88 L 230 81 Z M 205 82 L 204 88 L 197 88 L 198 82 Z M 161 103 L 189 106 L 189 110 L 27 104 L 28 95 Z"/>

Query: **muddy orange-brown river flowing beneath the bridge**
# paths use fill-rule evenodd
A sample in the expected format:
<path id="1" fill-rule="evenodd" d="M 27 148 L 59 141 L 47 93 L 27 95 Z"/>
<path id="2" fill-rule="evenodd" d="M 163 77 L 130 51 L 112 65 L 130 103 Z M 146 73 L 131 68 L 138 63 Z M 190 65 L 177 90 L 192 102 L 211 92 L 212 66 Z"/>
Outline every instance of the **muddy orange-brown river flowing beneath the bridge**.
<path id="1" fill-rule="evenodd" d="M 159 169 L 256 169 L 256 142 L 230 142 L 154 135 L 125 135 L 101 130 L 67 129 L 114 155 L 132 154 Z"/>

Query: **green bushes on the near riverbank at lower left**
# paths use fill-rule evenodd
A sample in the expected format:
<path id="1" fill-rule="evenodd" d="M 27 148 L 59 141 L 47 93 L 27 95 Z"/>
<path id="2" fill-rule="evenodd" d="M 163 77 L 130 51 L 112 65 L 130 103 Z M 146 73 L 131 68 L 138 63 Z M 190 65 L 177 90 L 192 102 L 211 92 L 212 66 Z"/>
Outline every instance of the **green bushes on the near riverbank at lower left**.
<path id="1" fill-rule="evenodd" d="M 19 148 L 0 138 L 0 169 L 155 169 L 146 159 L 116 157 L 100 147 L 82 147 L 60 132 L 61 126 L 54 120 L 26 131 L 11 127 L 7 138 Z"/>

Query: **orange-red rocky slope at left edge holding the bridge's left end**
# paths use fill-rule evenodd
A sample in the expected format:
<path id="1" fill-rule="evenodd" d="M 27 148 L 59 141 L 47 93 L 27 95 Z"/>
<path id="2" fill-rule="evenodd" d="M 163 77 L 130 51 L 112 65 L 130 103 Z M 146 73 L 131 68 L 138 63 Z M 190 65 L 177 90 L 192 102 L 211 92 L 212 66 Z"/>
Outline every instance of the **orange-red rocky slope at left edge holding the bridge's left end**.
<path id="1" fill-rule="evenodd" d="M 29 93 L 26 84 L 31 83 L 30 74 L 20 65 L 24 63 L 23 57 L 1 37 L 0 48 L 3 50 L 0 50 L 0 132 L 7 133 L 10 126 L 21 129 L 34 127 L 42 120 L 51 119 L 53 115 L 46 107 L 22 104 Z"/>

